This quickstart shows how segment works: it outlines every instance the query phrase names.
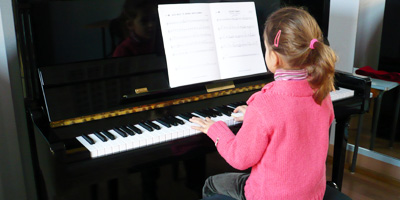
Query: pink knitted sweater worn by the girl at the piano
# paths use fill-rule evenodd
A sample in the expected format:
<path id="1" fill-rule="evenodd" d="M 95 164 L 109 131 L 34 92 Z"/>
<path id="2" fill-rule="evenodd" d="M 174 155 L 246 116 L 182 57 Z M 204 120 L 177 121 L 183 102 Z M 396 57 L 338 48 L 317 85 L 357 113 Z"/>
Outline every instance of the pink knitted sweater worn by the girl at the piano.
<path id="1" fill-rule="evenodd" d="M 221 156 L 234 168 L 251 169 L 245 196 L 253 199 L 322 199 L 329 127 L 328 96 L 314 102 L 307 80 L 274 81 L 247 101 L 236 136 L 219 121 L 208 130 Z"/>

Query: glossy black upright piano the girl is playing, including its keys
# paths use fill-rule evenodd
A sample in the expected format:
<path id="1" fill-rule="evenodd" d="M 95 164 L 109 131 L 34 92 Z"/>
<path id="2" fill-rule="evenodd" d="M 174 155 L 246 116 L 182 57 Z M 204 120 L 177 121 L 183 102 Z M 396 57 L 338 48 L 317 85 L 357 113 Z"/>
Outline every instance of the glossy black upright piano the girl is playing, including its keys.
<path id="1" fill-rule="evenodd" d="M 28 80 L 27 113 L 40 199 L 58 199 L 73 188 L 112 182 L 166 163 L 201 160 L 215 152 L 215 146 L 188 128 L 187 118 L 195 114 L 232 123 L 232 108 L 273 81 L 273 74 L 263 73 L 170 88 L 162 41 L 156 42 L 154 52 L 112 56 L 118 44 L 112 27 L 120 24 L 123 1 L 96 6 L 85 1 L 26 2 L 18 4 L 17 21 L 25 33 L 19 41 L 24 47 L 21 59 Z M 321 2 L 324 8 L 329 3 Z M 255 3 L 262 27 L 268 12 L 281 2 Z M 82 22 L 93 16 L 100 19 L 99 8 L 118 8 L 114 14 L 104 13 L 116 18 Z M 87 16 L 93 10 L 97 13 Z M 78 34 L 88 35 L 82 39 Z M 368 110 L 370 85 L 368 78 L 336 73 L 336 86 L 354 91 L 333 100 L 337 124 L 332 181 L 339 187 L 348 122 L 351 115 Z M 230 127 L 235 131 L 240 124 Z"/>

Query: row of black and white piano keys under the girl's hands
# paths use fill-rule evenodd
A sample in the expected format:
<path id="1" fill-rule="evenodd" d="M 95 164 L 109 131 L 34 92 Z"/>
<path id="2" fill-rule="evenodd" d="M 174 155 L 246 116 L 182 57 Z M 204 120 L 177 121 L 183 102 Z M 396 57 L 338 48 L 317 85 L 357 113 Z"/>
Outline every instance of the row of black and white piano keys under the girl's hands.
<path id="1" fill-rule="evenodd" d="M 338 101 L 354 96 L 354 91 L 339 88 L 331 92 L 330 95 L 332 101 Z M 245 102 L 140 122 L 134 125 L 115 127 L 109 130 L 83 134 L 76 137 L 76 139 L 89 150 L 92 158 L 103 157 L 200 134 L 199 131 L 191 128 L 191 126 L 198 126 L 189 122 L 192 116 L 210 117 L 214 121 L 224 121 L 228 126 L 236 125 L 240 122 L 236 122 L 233 115 L 240 116 L 242 114 L 233 113 L 233 109 L 243 104 Z"/>

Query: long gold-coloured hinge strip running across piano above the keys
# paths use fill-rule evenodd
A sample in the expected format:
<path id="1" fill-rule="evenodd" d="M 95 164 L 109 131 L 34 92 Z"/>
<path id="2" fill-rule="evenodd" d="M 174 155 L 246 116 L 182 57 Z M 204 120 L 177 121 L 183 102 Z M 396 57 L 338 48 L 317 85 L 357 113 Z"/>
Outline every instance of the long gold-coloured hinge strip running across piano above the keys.
<path id="1" fill-rule="evenodd" d="M 247 92 L 247 91 L 251 91 L 251 90 L 258 90 L 258 89 L 261 89 L 262 87 L 264 87 L 264 85 L 265 85 L 265 83 L 241 87 L 241 88 L 226 89 L 226 90 L 211 92 L 211 93 L 202 94 L 202 95 L 196 95 L 196 96 L 174 99 L 174 100 L 169 100 L 169 101 L 157 102 L 157 103 L 153 103 L 153 104 L 136 106 L 136 107 L 132 107 L 132 108 L 125 108 L 125 109 L 120 109 L 120 110 L 115 110 L 115 111 L 110 111 L 110 112 L 104 112 L 104 113 L 98 113 L 98 114 L 76 117 L 76 118 L 71 118 L 71 119 L 59 120 L 59 121 L 55 121 L 55 122 L 50 122 L 50 127 L 56 128 L 56 127 L 62 127 L 62 126 L 69 126 L 69 125 L 73 125 L 73 124 L 80 124 L 80 123 L 90 122 L 90 121 L 94 121 L 94 120 L 106 119 L 106 118 L 115 117 L 115 116 L 122 116 L 122 115 L 137 113 L 137 112 L 143 112 L 143 111 L 147 111 L 147 110 L 153 110 L 156 108 L 164 108 L 164 107 L 172 106 L 172 105 L 179 105 L 179 104 L 189 103 L 189 102 L 193 102 L 193 101 L 200 101 L 200 100 L 204 100 L 204 99 L 211 99 L 211 98 L 215 98 L 215 97 L 227 96 L 227 95 Z"/>

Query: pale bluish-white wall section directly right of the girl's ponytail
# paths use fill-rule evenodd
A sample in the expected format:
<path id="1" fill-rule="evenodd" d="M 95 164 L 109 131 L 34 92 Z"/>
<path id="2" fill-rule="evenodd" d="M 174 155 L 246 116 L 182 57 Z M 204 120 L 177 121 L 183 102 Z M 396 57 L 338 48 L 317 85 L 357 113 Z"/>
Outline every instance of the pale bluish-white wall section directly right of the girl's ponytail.
<path id="1" fill-rule="evenodd" d="M 328 40 L 339 57 L 336 70 L 353 72 L 359 2 L 331 0 Z"/>

